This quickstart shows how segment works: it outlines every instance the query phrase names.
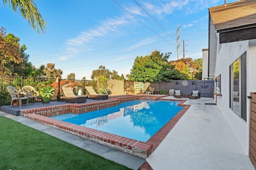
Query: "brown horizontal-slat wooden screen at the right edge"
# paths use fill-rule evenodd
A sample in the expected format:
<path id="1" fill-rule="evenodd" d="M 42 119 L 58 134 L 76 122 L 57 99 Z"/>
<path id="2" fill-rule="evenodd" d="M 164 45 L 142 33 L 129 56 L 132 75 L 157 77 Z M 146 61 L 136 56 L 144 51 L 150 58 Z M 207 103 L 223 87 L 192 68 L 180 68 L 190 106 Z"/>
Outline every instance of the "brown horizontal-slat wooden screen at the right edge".
<path id="1" fill-rule="evenodd" d="M 256 93 L 251 92 L 250 102 L 250 145 L 249 157 L 254 166 L 256 166 Z"/>

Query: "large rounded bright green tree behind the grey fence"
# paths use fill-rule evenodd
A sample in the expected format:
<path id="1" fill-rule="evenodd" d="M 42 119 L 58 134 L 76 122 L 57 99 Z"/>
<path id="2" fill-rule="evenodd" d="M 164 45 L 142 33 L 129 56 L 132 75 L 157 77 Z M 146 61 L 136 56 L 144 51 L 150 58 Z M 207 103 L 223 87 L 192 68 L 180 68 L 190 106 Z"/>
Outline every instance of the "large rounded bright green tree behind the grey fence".
<path id="1" fill-rule="evenodd" d="M 164 55 L 157 50 L 145 57 L 137 56 L 130 72 L 130 78 L 140 82 L 158 80 L 157 75 L 167 64 L 169 56 L 170 53 Z"/>

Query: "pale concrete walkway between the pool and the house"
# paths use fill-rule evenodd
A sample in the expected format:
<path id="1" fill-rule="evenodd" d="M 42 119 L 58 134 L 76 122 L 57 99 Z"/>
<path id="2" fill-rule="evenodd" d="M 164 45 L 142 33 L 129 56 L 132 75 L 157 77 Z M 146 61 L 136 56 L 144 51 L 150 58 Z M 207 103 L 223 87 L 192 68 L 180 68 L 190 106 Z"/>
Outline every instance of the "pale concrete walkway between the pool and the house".
<path id="1" fill-rule="evenodd" d="M 214 101 L 201 98 L 184 103 L 191 107 L 146 159 L 154 170 L 254 169 L 218 107 L 204 103 Z"/>

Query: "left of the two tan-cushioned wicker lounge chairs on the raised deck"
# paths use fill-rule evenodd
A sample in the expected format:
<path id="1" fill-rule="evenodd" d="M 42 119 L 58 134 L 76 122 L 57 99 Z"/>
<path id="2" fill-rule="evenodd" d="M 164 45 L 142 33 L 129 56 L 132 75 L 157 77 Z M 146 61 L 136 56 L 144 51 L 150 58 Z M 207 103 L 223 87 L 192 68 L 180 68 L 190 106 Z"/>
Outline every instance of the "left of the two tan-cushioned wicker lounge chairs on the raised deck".
<path id="1" fill-rule="evenodd" d="M 63 93 L 63 96 L 57 96 L 58 101 L 65 101 L 69 103 L 86 102 L 87 96 L 85 95 L 76 96 L 71 87 L 61 87 L 61 91 Z"/>

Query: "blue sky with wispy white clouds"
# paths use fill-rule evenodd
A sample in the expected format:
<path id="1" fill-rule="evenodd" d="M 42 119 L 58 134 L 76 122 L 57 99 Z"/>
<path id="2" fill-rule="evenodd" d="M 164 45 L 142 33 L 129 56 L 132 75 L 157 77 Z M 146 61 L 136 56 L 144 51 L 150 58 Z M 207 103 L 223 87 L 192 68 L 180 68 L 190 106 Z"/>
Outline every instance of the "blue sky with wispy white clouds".
<path id="1" fill-rule="evenodd" d="M 185 57 L 201 58 L 202 48 L 208 48 L 208 8 L 224 4 L 224 0 L 136 2 L 37 0 L 36 5 L 47 22 L 46 34 L 35 32 L 20 14 L 0 3 L 0 16 L 5 16 L 1 17 L 0 26 L 20 37 L 20 43 L 28 48 L 29 61 L 36 67 L 55 63 L 55 68 L 63 71 L 62 78 L 75 73 L 76 79 L 90 80 L 92 71 L 100 65 L 125 76 L 136 56 L 149 55 L 155 49 L 171 52 L 169 60 L 176 60 L 178 25 L 179 57 L 183 57 L 182 40 L 185 40 Z"/>

